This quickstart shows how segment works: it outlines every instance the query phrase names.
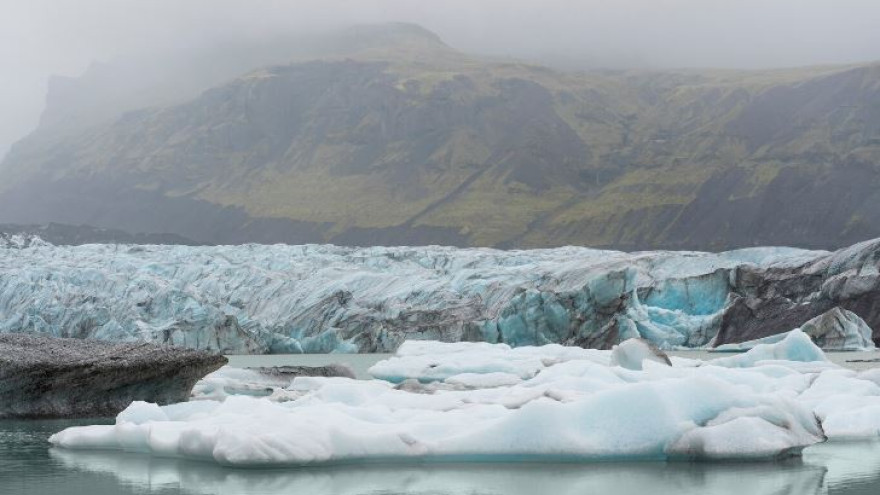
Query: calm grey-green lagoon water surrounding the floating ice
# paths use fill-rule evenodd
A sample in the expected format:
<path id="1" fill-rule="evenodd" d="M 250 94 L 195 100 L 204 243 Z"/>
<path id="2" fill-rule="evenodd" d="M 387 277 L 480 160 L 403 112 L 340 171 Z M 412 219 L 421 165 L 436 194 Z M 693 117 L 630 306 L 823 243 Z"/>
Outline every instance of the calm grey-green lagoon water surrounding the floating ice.
<path id="1" fill-rule="evenodd" d="M 231 364 L 347 362 L 364 376 L 381 357 L 233 356 Z M 410 464 L 272 470 L 118 452 L 64 451 L 47 443 L 51 434 L 68 426 L 111 421 L 0 421 L 0 495 L 880 493 L 880 442 L 817 445 L 807 449 L 803 458 L 770 463 Z"/>

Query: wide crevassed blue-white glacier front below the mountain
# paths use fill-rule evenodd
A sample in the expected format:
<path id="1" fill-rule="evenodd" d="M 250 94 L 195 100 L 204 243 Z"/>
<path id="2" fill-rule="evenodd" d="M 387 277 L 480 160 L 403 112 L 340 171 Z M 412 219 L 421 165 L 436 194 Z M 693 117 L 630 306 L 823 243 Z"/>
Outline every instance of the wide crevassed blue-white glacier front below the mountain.
<path id="1" fill-rule="evenodd" d="M 404 340 L 610 349 L 736 343 L 835 307 L 880 324 L 880 241 L 720 254 L 0 243 L 0 332 L 226 353 L 393 352 Z"/>

